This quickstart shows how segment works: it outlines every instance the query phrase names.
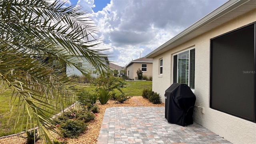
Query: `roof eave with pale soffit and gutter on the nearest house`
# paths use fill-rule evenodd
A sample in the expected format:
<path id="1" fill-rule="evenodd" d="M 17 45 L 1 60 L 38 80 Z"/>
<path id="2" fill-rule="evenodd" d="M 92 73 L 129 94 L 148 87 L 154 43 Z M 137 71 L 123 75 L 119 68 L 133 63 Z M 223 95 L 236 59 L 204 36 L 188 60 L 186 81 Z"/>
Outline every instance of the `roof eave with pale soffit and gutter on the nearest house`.
<path id="1" fill-rule="evenodd" d="M 256 8 L 256 0 L 230 0 L 206 15 L 202 19 L 198 20 L 192 26 L 180 34 L 174 36 L 174 38 L 168 40 L 154 51 L 146 55 L 146 58 L 154 58 L 159 54 L 162 54 L 196 36 L 199 36 L 205 32 L 208 32 L 242 14 L 245 14 Z"/>

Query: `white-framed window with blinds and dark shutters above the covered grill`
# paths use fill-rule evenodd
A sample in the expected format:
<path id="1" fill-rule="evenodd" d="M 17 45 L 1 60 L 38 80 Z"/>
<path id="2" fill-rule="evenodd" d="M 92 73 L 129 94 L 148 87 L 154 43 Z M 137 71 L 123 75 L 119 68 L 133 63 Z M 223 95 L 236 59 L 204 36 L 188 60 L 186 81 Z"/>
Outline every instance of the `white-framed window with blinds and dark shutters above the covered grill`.
<path id="1" fill-rule="evenodd" d="M 173 56 L 173 83 L 187 84 L 195 88 L 195 49 Z"/>

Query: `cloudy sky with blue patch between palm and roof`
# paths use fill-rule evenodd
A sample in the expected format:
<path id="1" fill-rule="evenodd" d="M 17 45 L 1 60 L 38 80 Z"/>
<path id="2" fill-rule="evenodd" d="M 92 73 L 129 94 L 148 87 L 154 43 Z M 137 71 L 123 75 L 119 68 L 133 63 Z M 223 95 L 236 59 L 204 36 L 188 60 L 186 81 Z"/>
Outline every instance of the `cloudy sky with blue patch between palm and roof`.
<path id="1" fill-rule="evenodd" d="M 142 58 L 228 0 L 69 0 L 98 27 L 98 49 L 126 66 Z"/>

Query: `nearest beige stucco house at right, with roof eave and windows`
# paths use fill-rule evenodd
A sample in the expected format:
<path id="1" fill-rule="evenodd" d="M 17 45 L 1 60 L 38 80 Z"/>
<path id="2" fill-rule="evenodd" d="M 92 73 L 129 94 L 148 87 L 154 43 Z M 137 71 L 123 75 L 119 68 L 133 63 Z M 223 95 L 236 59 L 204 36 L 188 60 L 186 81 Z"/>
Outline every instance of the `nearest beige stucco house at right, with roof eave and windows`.
<path id="1" fill-rule="evenodd" d="M 152 90 L 185 83 L 194 121 L 234 144 L 256 144 L 256 0 L 230 0 L 156 48 Z"/>

